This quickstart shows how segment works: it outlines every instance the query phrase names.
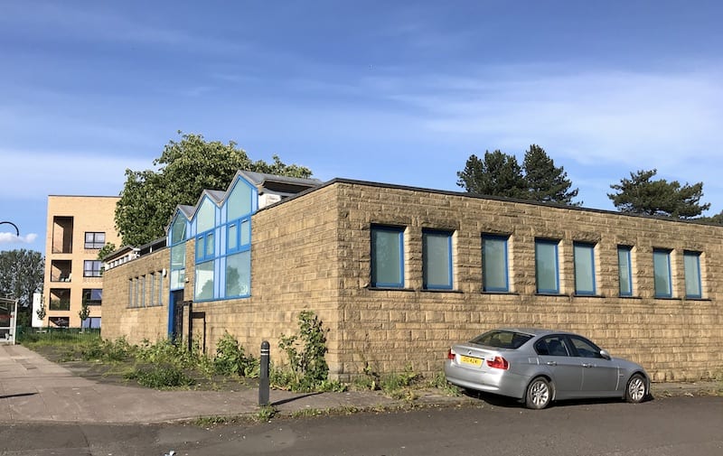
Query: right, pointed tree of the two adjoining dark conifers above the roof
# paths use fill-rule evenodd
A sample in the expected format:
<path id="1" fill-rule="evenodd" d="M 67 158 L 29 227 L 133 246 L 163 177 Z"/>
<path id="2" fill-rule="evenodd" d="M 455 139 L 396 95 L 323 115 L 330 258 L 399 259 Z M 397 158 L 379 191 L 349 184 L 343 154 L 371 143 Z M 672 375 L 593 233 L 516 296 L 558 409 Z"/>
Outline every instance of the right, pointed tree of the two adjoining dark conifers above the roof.
<path id="1" fill-rule="evenodd" d="M 568 206 L 579 206 L 581 202 L 573 202 L 577 197 L 577 189 L 570 190 L 572 182 L 568 173 L 549 158 L 545 150 L 537 144 L 531 144 L 525 152 L 522 169 L 527 182 L 528 198 L 535 201 L 558 202 Z"/>

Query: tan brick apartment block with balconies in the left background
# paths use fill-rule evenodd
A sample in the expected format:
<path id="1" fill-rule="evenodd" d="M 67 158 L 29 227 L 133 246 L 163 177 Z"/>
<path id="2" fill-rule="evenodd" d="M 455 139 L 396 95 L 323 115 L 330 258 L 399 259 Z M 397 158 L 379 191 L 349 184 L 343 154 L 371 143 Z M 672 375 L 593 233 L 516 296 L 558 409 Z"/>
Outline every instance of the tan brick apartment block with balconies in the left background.
<path id="1" fill-rule="evenodd" d="M 99 328 L 103 302 L 102 263 L 98 254 L 108 243 L 120 247 L 115 228 L 118 197 L 48 197 L 45 277 L 42 299 L 45 325 Z M 80 321 L 83 302 L 89 318 Z"/>

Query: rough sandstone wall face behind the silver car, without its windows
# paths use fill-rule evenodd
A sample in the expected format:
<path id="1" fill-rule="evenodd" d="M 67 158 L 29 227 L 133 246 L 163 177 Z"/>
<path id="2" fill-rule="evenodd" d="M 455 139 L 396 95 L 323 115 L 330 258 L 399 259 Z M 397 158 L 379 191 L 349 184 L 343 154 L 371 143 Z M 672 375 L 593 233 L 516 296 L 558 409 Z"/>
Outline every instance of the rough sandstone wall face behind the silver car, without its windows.
<path id="1" fill-rule="evenodd" d="M 656 381 L 723 374 L 723 227 L 342 181 L 339 377 L 365 364 L 434 373 L 453 341 L 499 326 L 580 332 Z M 372 224 L 405 227 L 405 288 L 371 289 Z M 422 288 L 422 229 L 454 231 L 454 290 Z M 482 292 L 482 235 L 510 237 L 511 293 Z M 536 293 L 536 238 L 559 239 L 559 295 Z M 573 242 L 596 244 L 596 296 L 574 293 Z M 620 297 L 617 246 L 633 246 L 634 296 Z M 653 248 L 672 250 L 673 297 L 654 297 Z M 685 299 L 684 250 L 702 252 L 702 299 Z"/>

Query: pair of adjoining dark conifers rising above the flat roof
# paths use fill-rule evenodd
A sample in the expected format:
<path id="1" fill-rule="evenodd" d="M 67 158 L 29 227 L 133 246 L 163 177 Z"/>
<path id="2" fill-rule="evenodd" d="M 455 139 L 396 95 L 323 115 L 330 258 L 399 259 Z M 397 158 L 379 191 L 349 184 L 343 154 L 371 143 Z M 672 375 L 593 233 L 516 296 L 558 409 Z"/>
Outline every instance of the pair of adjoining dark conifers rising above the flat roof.
<path id="1" fill-rule="evenodd" d="M 484 159 L 470 155 L 465 170 L 457 172 L 457 185 L 470 193 L 557 202 L 579 206 L 573 202 L 577 189 L 570 190 L 572 182 L 562 167 L 556 167 L 542 147 L 531 144 L 525 152 L 522 166 L 514 155 L 499 150 L 485 152 Z"/>

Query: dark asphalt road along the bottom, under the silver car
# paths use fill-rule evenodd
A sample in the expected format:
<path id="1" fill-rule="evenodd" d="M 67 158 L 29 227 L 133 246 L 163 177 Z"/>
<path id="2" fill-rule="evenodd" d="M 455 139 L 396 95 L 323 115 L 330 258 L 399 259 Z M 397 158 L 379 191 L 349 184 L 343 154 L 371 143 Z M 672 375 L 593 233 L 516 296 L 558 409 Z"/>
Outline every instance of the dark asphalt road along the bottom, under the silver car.
<path id="1" fill-rule="evenodd" d="M 641 405 L 573 403 L 531 411 L 514 404 L 389 414 L 275 418 L 202 428 L 186 424 L 0 425 L 6 456 L 555 455 L 718 456 L 723 397 Z"/>

